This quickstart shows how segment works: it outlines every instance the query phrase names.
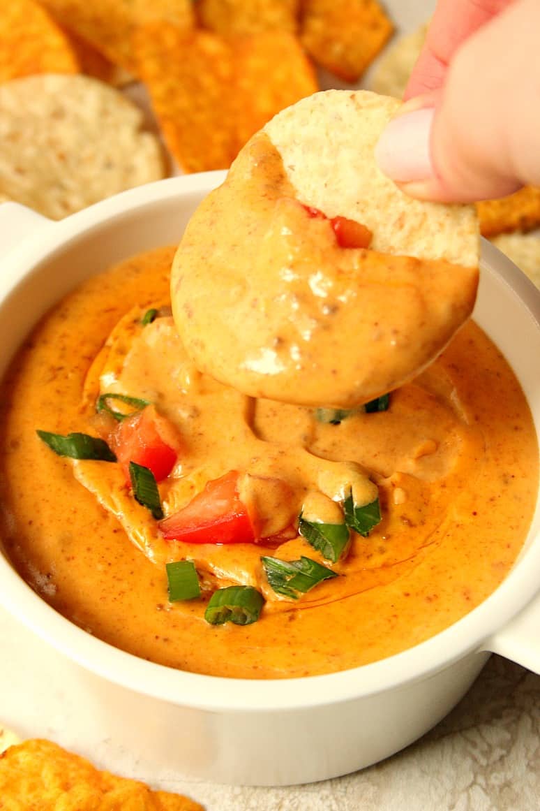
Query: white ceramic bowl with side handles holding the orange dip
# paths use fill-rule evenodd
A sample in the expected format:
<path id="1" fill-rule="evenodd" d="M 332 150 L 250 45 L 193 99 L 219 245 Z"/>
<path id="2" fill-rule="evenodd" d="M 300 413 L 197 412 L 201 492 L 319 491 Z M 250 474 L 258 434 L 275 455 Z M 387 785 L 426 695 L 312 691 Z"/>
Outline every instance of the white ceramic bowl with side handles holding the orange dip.
<path id="1" fill-rule="evenodd" d="M 0 373 L 68 290 L 128 255 L 178 242 L 223 173 L 161 181 L 61 222 L 0 206 Z M 517 373 L 540 435 L 540 294 L 489 243 L 474 317 Z M 192 779 L 280 785 L 346 774 L 402 749 L 439 721 L 495 651 L 540 673 L 540 509 L 502 585 L 449 629 L 353 670 L 237 680 L 172 670 L 117 650 L 43 602 L 0 555 L 0 601 L 108 684 L 115 742 Z M 96 680 L 88 680 L 94 684 Z M 115 686 L 116 685 L 116 686 Z"/>

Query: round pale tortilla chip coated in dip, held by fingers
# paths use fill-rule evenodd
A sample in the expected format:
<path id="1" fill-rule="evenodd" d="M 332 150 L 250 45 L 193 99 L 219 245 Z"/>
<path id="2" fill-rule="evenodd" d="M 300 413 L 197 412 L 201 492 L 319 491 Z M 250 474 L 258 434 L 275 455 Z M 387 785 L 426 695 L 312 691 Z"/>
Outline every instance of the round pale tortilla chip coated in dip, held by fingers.
<path id="1" fill-rule="evenodd" d="M 399 105 L 366 91 L 299 101 L 203 200 L 172 264 L 199 371 L 251 397 L 351 408 L 410 380 L 468 318 L 474 206 L 411 200 L 376 165 Z M 344 247 L 334 217 L 371 243 Z"/>

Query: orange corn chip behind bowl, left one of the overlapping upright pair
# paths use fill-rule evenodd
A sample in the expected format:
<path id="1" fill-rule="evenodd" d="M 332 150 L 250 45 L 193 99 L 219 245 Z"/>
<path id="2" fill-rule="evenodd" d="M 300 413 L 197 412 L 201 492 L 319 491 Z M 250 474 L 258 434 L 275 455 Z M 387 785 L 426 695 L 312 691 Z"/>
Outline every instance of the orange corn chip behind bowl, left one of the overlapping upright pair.
<path id="1" fill-rule="evenodd" d="M 155 24 L 139 29 L 134 53 L 136 71 L 181 168 L 226 169 L 236 154 L 231 46 L 210 32 L 185 34 Z"/>

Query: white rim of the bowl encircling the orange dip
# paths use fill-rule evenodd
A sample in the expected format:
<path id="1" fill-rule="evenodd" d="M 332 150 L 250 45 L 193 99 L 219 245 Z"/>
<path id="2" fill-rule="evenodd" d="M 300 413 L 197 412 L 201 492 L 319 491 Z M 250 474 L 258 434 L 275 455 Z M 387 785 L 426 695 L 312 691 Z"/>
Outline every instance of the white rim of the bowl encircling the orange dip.
<path id="1" fill-rule="evenodd" d="M 0 277 L 0 307 L 15 287 L 74 239 L 108 221 L 178 196 L 203 194 L 223 181 L 224 171 L 168 178 L 137 187 L 83 209 L 65 220 L 49 222 L 39 239 L 28 239 L 6 257 Z M 483 272 L 500 274 L 540 332 L 540 292 L 494 246 L 483 243 Z M 495 268 L 491 265 L 495 264 Z M 533 525 L 540 520 L 537 502 Z M 529 533 L 529 541 L 531 541 Z M 535 536 L 536 537 L 536 536 Z M 517 560 L 498 588 L 469 614 L 435 637 L 386 659 L 329 673 L 283 679 L 233 679 L 206 676 L 139 659 L 66 620 L 28 586 L 0 555 L 0 603 L 51 646 L 105 680 L 165 702 L 218 712 L 308 709 L 332 705 L 427 679 L 467 654 L 483 650 L 483 642 L 504 627 L 540 592 L 538 543 Z"/>

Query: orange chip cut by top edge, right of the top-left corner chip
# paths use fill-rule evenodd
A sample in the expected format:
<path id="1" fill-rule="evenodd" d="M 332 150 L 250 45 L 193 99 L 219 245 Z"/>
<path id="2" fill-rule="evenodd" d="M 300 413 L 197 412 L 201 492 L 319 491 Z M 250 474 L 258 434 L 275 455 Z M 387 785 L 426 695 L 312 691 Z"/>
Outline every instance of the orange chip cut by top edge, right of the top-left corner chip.
<path id="1" fill-rule="evenodd" d="M 57 21 L 91 43 L 115 65 L 134 71 L 132 37 L 154 20 L 194 25 L 191 0 L 41 0 Z"/>

